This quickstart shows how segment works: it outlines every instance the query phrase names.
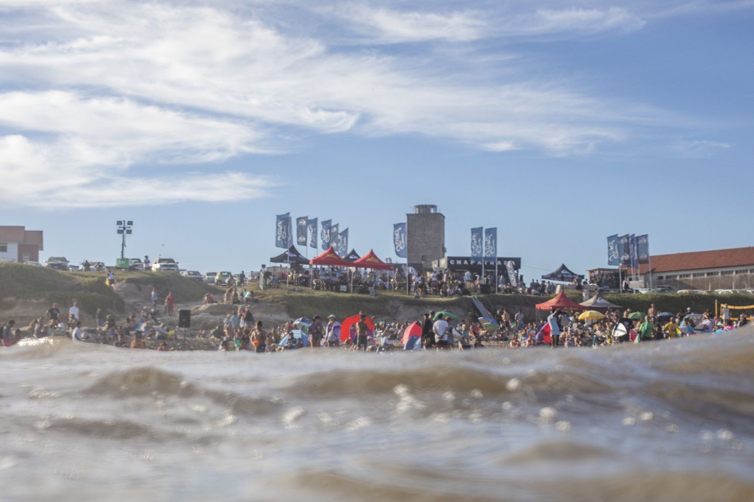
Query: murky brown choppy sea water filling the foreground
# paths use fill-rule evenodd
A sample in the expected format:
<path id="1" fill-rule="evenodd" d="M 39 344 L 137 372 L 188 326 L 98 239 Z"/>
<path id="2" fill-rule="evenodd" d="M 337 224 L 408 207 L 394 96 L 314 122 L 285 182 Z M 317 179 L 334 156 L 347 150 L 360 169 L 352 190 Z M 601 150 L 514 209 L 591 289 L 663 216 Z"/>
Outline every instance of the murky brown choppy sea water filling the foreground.
<path id="1" fill-rule="evenodd" d="M 600 350 L 0 349 L 2 500 L 754 500 L 754 332 Z"/>

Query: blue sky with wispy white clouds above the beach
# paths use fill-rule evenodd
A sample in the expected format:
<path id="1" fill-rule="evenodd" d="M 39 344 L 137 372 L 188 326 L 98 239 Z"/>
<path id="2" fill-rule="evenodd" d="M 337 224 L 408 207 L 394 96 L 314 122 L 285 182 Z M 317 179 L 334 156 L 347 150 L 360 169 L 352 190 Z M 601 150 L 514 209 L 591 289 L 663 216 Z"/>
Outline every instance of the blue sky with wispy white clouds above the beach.
<path id="1" fill-rule="evenodd" d="M 0 225 L 258 270 L 275 215 L 397 260 L 415 204 L 528 281 L 752 245 L 754 1 L 0 0 Z M 308 256 L 314 249 L 299 248 Z"/>

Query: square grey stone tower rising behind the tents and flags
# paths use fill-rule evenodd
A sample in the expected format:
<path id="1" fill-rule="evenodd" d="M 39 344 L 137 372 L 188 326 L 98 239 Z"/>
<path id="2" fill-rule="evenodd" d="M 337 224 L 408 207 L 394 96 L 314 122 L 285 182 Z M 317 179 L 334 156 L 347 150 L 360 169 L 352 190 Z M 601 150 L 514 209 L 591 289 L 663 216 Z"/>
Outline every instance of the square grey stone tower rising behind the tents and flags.
<path id="1" fill-rule="evenodd" d="M 409 264 L 431 267 L 433 260 L 445 257 L 445 216 L 437 206 L 420 204 L 406 214 Z"/>

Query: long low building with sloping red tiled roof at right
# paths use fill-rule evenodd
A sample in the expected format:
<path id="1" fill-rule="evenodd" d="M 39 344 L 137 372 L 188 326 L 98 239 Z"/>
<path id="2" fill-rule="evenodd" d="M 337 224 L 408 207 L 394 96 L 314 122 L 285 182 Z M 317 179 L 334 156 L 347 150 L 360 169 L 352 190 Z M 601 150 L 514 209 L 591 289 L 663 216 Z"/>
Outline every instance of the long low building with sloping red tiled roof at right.
<path id="1" fill-rule="evenodd" d="M 754 246 L 651 256 L 654 286 L 678 289 L 754 289 Z M 648 283 L 650 265 L 639 271 Z"/>

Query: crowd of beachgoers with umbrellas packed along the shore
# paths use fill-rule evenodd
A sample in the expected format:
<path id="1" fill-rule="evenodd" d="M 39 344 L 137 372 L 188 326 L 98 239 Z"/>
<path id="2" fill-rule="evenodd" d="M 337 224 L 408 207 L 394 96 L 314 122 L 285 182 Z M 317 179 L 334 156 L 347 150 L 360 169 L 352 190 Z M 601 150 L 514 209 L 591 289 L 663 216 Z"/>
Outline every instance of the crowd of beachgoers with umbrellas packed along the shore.
<path id="1" fill-rule="evenodd" d="M 467 277 L 428 277 L 430 287 L 440 290 L 450 283 L 461 281 L 464 285 Z M 472 277 L 472 281 L 479 277 Z M 433 286 L 433 283 L 437 283 Z M 416 287 L 422 287 L 418 281 Z M 439 286 L 438 286 L 439 285 Z M 246 292 L 246 290 L 243 290 Z M 270 352 L 295 350 L 304 347 L 342 347 L 346 350 L 366 350 L 382 352 L 410 348 L 411 350 L 467 350 L 484 347 L 486 342 L 494 341 L 510 348 L 535 347 L 550 345 L 557 347 L 600 347 L 620 344 L 627 341 L 657 341 L 694 335 L 697 332 L 725 332 L 746 326 L 749 314 L 741 314 L 738 319 L 731 316 L 728 305 L 722 305 L 719 316 L 709 311 L 696 314 L 691 308 L 677 314 L 661 313 L 654 304 L 646 314 L 625 310 L 608 309 L 599 319 L 580 318 L 579 313 L 552 310 L 546 319 L 526 319 L 522 310 L 511 314 L 507 309 L 496 312 L 494 322 L 483 322 L 482 317 L 468 312 L 458 318 L 447 313 L 436 314 L 434 311 L 415 320 L 421 326 L 418 341 L 406 347 L 403 333 L 412 321 L 390 323 L 379 321 L 374 317 L 360 313 L 360 320 L 355 323 L 353 332 L 342 337 L 341 323 L 330 314 L 326 320 L 320 315 L 310 319 L 291 320 L 273 329 L 265 330 L 261 320 L 255 320 L 251 302 L 237 301 L 237 286 L 231 284 L 225 293 L 225 302 L 236 305 L 234 311 L 227 314 L 222 323 L 215 328 L 200 330 L 194 334 L 198 338 L 216 341 L 218 350 L 253 350 Z M 244 295 L 244 299 L 251 295 Z M 207 302 L 207 298 L 205 298 Z M 20 329 L 14 320 L 2 326 L 2 344 L 10 346 L 20 338 L 29 336 L 43 338 L 49 335 L 66 335 L 72 341 L 88 341 L 112 344 L 116 347 L 146 348 L 147 340 L 159 342 L 158 350 L 169 350 L 168 341 L 175 340 L 176 327 L 170 324 L 174 317 L 175 298 L 167 292 L 164 300 L 155 289 L 149 296 L 149 305 L 141 312 L 127 315 L 118 320 L 113 314 L 105 314 L 97 309 L 94 315 L 96 326 L 84 329 L 78 302 L 73 302 L 67 317 L 54 303 L 44 316 L 38 317 Z M 164 317 L 163 317 L 164 316 Z M 583 316 L 582 316 L 583 317 Z M 370 328 L 374 326 L 374 329 Z M 302 336 L 302 334 L 304 336 Z"/>

